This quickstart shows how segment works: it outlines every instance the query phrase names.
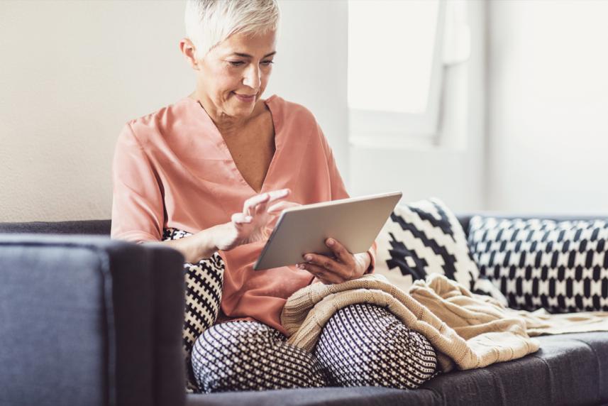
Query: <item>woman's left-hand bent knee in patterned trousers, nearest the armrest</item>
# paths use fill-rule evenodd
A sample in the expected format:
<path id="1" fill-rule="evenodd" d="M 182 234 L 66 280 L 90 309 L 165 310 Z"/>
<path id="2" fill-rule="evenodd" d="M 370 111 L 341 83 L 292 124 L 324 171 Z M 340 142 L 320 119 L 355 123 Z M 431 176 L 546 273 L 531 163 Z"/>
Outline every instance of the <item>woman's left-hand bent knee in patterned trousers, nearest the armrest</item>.
<path id="1" fill-rule="evenodd" d="M 204 393 L 325 385 L 311 353 L 258 322 L 226 322 L 206 330 L 192 349 L 192 369 Z"/>

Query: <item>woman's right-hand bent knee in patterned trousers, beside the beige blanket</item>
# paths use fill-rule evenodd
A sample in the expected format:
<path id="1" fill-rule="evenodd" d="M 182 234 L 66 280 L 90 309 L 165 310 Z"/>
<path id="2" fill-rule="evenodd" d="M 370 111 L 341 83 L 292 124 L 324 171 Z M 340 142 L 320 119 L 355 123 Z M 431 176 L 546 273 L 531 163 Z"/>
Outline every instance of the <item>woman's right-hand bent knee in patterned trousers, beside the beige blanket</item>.
<path id="1" fill-rule="evenodd" d="M 436 371 L 436 353 L 422 334 L 382 307 L 338 310 L 321 332 L 315 353 L 333 385 L 417 388 Z"/>

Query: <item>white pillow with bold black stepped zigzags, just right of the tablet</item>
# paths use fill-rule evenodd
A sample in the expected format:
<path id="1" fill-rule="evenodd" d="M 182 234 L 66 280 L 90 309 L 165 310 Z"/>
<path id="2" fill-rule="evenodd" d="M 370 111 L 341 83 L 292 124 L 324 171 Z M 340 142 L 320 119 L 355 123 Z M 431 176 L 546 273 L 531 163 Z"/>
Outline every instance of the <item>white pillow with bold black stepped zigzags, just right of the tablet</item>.
<path id="1" fill-rule="evenodd" d="M 414 280 L 441 273 L 471 292 L 507 304 L 489 280 L 480 278 L 460 221 L 440 199 L 397 205 L 376 242 L 375 272 L 405 292 Z"/>

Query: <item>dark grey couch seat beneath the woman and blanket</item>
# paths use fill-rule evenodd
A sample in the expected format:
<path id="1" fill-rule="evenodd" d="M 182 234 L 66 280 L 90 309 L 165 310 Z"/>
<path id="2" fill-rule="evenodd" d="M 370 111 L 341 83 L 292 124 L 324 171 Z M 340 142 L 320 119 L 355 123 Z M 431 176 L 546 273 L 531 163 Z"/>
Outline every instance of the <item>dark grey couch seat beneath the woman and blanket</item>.
<path id="1" fill-rule="evenodd" d="M 541 336 L 541 350 L 454 371 L 416 390 L 319 388 L 189 395 L 187 405 L 598 405 L 608 402 L 608 333 Z"/>

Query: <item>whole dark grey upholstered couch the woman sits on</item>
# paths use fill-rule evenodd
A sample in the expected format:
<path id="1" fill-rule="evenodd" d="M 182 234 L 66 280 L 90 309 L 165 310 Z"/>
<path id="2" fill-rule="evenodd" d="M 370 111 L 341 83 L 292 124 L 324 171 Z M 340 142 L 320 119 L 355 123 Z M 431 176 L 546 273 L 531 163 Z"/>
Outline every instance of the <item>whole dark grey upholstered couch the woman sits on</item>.
<path id="1" fill-rule="evenodd" d="M 109 231 L 0 223 L 0 405 L 608 405 L 608 333 L 543 336 L 537 353 L 417 390 L 186 396 L 183 257 Z"/>

